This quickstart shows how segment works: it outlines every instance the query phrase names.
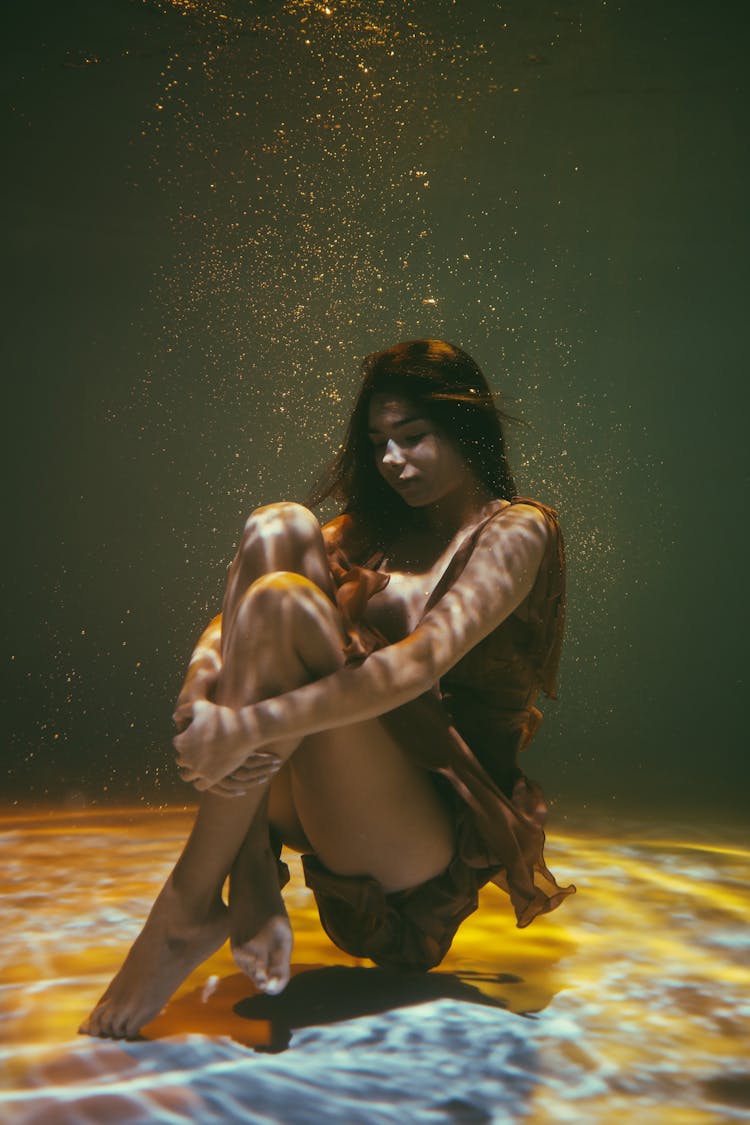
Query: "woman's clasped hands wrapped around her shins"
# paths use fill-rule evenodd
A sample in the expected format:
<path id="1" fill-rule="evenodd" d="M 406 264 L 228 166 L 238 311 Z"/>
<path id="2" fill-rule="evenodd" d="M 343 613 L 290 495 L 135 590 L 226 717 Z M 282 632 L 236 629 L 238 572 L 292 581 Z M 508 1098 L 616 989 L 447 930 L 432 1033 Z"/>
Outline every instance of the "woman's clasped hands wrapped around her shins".
<path id="1" fill-rule="evenodd" d="M 192 782 L 201 792 L 241 795 L 250 786 L 270 781 L 281 765 L 275 754 L 257 749 L 249 709 L 241 714 L 232 708 L 196 700 L 189 714 L 182 708 L 175 712 L 175 721 L 186 720 L 187 726 L 173 740 L 177 764 L 182 780 Z"/>

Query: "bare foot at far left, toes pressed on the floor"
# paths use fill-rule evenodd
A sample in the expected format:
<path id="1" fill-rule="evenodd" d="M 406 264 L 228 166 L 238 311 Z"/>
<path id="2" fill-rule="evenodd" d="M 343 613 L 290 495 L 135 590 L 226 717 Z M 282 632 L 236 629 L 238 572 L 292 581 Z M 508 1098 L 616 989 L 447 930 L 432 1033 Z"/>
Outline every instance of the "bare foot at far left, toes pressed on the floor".
<path id="1" fill-rule="evenodd" d="M 123 968 L 79 1033 L 133 1038 L 227 936 L 224 903 L 217 902 L 210 915 L 198 921 L 188 915 L 170 876 Z"/>

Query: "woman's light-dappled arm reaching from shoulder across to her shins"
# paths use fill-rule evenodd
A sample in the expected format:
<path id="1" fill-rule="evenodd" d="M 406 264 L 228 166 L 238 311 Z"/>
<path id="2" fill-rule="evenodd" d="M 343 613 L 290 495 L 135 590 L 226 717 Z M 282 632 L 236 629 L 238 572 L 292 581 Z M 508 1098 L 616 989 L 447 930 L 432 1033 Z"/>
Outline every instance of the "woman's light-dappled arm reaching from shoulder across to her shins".
<path id="1" fill-rule="evenodd" d="M 523 602 L 546 537 L 544 518 L 531 506 L 516 505 L 501 520 L 490 520 L 460 577 L 407 638 L 358 667 L 241 711 L 213 708 L 228 713 L 209 716 L 198 704 L 192 727 L 175 739 L 178 762 L 210 783 L 265 744 L 373 719 L 416 699 Z"/>

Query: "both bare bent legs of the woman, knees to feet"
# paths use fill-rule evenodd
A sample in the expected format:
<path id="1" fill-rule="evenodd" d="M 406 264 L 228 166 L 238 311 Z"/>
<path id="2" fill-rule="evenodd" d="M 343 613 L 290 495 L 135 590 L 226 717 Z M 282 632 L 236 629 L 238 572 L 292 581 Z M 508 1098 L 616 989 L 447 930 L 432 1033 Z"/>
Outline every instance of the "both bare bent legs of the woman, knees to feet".
<path id="1" fill-rule="evenodd" d="M 327 567 L 319 529 L 293 505 L 282 505 L 287 542 L 305 544 L 307 564 Z M 262 510 L 280 520 L 279 510 Z M 262 513 L 261 513 L 262 515 Z M 268 521 L 266 521 L 268 523 Z M 266 526 L 268 532 L 268 526 Z M 279 533 L 281 526 L 279 525 Z M 246 550 L 227 584 L 223 669 L 217 701 L 241 706 L 318 678 L 342 662 L 342 627 L 320 586 L 292 573 L 254 573 L 247 557 L 275 543 L 249 524 Z M 283 552 L 279 549 L 278 556 Z M 313 561 L 310 561 L 310 559 Z M 264 564 L 268 566 L 268 561 Z M 243 579 L 238 577 L 244 575 Z M 372 720 L 306 739 L 280 752 L 291 762 L 291 789 L 301 831 L 333 871 L 371 874 L 386 891 L 414 885 L 442 871 L 452 856 L 450 819 L 430 781 L 409 764 L 385 727 Z M 205 794 L 196 825 L 143 933 L 82 1030 L 134 1035 L 160 1010 L 182 979 L 225 939 L 231 927 L 238 965 L 269 990 L 283 987 L 291 945 L 257 817 L 268 786 L 244 796 Z M 292 810 L 293 817 L 293 810 Z M 293 840 L 290 840 L 293 843 Z M 233 871 L 227 918 L 222 888 Z M 270 986 L 270 988 L 269 988 Z"/>

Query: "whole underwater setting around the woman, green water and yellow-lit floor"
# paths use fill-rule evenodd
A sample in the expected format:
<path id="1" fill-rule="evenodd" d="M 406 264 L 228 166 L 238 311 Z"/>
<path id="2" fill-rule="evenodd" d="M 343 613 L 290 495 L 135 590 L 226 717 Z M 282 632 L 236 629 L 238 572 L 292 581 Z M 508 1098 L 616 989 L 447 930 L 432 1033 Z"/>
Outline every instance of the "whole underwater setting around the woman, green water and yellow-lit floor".
<path id="1" fill-rule="evenodd" d="M 0 1119 L 750 1116 L 747 6 L 4 17 Z M 518 934 L 491 892 L 401 988 L 295 868 L 272 1011 L 225 952 L 151 1043 L 76 1041 L 189 822 L 172 702 L 244 518 L 417 336 L 478 360 L 566 531 L 524 765 L 579 893 Z"/>

